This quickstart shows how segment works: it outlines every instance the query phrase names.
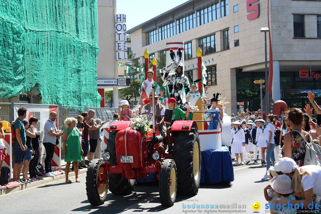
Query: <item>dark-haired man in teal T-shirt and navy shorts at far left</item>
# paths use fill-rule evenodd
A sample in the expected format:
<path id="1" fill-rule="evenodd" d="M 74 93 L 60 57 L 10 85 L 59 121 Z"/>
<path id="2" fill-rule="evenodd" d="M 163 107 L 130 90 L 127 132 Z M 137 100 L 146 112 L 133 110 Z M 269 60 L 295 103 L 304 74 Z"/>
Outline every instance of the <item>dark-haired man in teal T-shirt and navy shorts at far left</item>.
<path id="1" fill-rule="evenodd" d="M 13 133 L 16 136 L 16 141 L 13 144 L 13 152 L 14 152 L 14 166 L 13 166 L 13 181 L 18 181 L 20 178 L 20 171 L 24 160 L 24 153 L 26 150 L 26 133 L 24 129 L 23 119 L 27 116 L 27 108 L 20 107 L 18 108 L 18 118 L 14 122 L 13 125 Z M 22 185 L 24 182 L 19 181 Z"/>

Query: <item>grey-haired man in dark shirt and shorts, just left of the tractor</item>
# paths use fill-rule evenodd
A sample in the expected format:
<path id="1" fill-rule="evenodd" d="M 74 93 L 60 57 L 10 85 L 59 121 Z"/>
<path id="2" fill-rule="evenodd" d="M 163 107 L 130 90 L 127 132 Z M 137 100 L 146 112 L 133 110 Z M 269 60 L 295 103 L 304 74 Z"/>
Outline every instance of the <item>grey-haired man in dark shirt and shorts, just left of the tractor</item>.
<path id="1" fill-rule="evenodd" d="M 96 121 L 94 120 L 95 117 L 95 110 L 90 109 L 88 111 L 88 117 L 89 119 L 87 120 L 88 125 L 90 126 L 88 128 L 89 130 L 89 161 L 91 161 L 92 159 L 94 159 L 94 153 L 96 151 L 97 148 L 97 142 L 98 139 L 100 138 L 100 128 L 103 124 L 97 124 Z"/>

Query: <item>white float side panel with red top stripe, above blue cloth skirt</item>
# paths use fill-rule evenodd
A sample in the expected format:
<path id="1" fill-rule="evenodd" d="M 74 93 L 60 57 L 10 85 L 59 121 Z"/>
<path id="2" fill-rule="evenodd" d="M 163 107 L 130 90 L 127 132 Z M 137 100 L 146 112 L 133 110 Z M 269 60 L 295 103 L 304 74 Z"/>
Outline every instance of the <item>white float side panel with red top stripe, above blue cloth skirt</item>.
<path id="1" fill-rule="evenodd" d="M 201 151 L 221 149 L 221 129 L 198 130 Z"/>

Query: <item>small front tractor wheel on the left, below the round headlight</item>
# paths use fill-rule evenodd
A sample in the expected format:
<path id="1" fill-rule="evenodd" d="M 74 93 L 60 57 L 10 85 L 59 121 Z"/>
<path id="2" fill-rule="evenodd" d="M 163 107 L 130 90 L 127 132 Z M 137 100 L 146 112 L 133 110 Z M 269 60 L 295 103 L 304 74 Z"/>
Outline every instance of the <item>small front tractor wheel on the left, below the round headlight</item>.
<path id="1" fill-rule="evenodd" d="M 88 201 L 92 205 L 102 205 L 107 196 L 106 184 L 101 184 L 101 173 L 104 172 L 104 161 L 94 159 L 90 162 L 90 167 L 86 176 L 86 192 Z"/>

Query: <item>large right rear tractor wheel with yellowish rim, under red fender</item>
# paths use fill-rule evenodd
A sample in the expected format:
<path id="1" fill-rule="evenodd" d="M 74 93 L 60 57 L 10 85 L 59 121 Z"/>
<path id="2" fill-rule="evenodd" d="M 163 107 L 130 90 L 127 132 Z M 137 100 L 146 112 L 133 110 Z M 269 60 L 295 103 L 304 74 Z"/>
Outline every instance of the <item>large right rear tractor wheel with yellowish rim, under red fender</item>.
<path id="1" fill-rule="evenodd" d="M 173 159 L 177 167 L 177 192 L 181 195 L 197 194 L 201 179 L 201 149 L 198 130 L 173 132 Z"/>

